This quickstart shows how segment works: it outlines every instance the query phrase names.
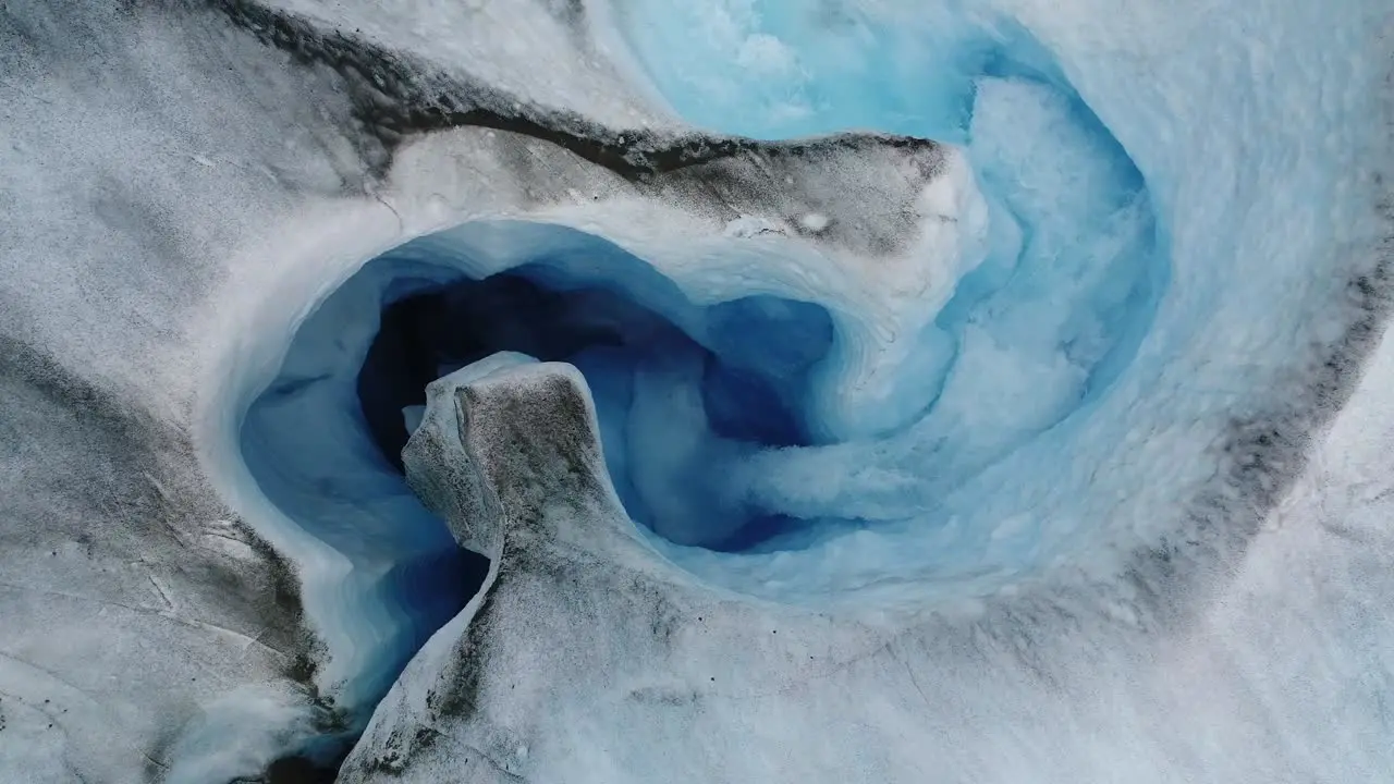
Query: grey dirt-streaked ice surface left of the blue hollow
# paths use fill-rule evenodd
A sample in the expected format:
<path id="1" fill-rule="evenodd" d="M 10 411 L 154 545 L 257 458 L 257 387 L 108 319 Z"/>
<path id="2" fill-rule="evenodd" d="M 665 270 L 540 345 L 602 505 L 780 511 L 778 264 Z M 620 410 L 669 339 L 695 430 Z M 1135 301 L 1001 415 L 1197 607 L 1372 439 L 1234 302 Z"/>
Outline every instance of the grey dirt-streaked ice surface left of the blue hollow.
<path id="1" fill-rule="evenodd" d="M 195 399 L 230 254 L 351 179 L 325 86 L 202 11 L 0 10 L 0 780 L 156 780 L 201 704 L 307 679 Z"/>

